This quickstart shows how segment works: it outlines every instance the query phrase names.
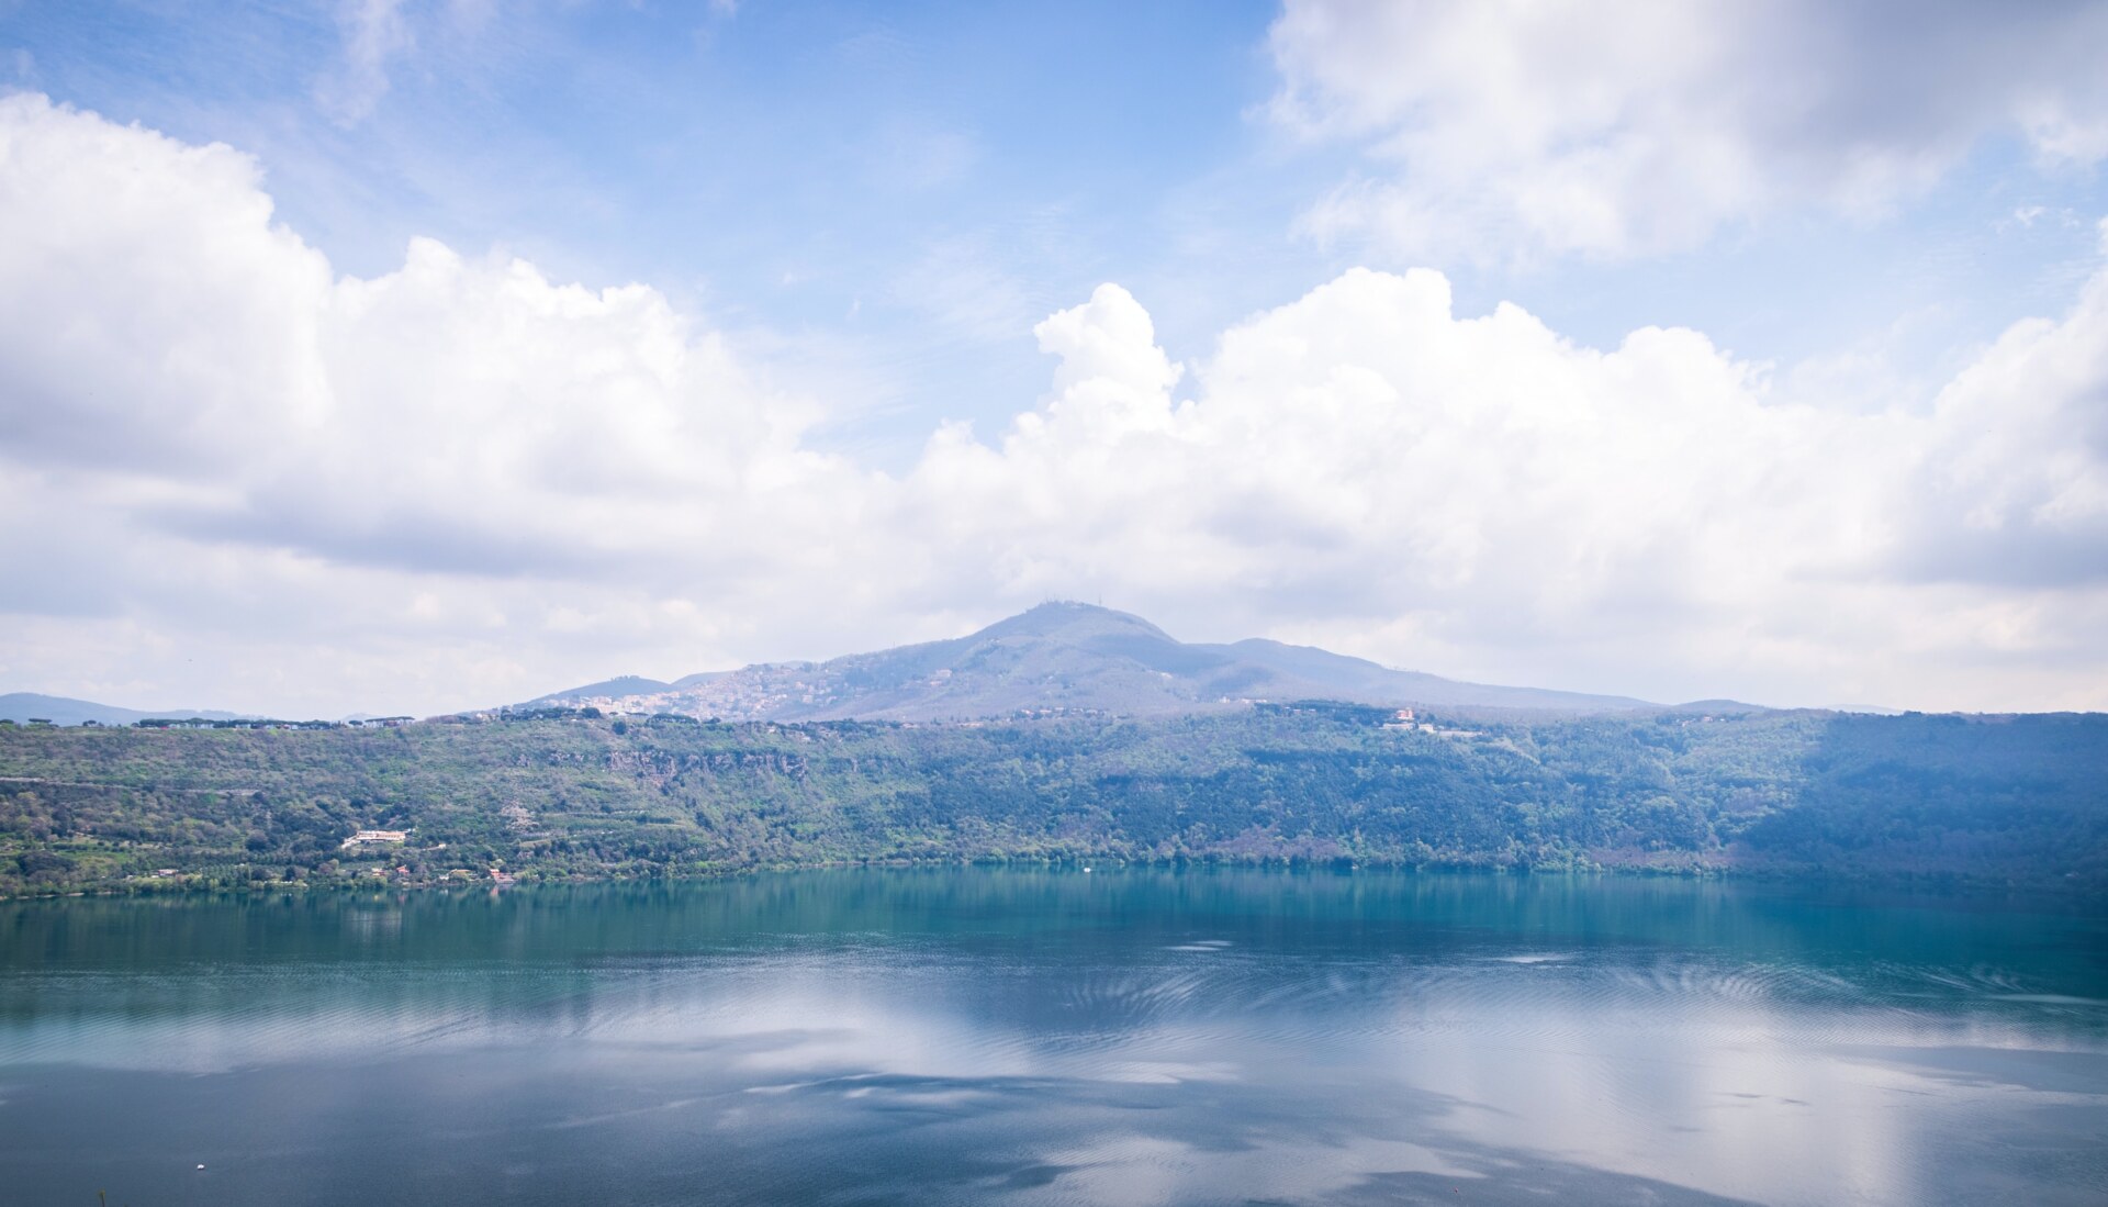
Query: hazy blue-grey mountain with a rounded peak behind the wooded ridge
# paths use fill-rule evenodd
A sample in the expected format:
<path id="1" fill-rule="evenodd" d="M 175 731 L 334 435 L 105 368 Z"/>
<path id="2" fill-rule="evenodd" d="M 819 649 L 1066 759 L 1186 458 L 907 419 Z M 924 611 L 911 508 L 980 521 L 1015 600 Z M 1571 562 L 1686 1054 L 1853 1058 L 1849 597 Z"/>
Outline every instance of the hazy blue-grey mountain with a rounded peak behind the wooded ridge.
<path id="1" fill-rule="evenodd" d="M 552 692 L 529 707 L 909 722 L 1027 711 L 1162 715 L 1307 698 L 1558 713 L 1657 707 L 1627 696 L 1461 684 L 1311 646 L 1185 644 L 1140 616 L 1090 604 L 1041 604 L 965 637 L 828 663 L 763 663 L 672 684 L 635 675 L 607 679 Z"/>

